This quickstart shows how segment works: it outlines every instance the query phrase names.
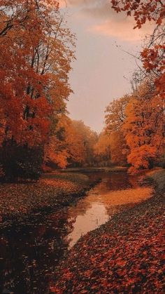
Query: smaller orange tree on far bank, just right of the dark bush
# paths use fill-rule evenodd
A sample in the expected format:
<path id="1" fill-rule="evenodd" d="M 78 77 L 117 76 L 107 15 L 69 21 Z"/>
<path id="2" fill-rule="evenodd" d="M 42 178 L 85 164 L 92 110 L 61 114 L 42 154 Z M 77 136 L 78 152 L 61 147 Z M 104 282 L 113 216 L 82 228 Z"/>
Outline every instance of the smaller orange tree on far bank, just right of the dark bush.
<path id="1" fill-rule="evenodd" d="M 68 116 L 60 114 L 50 140 L 45 145 L 45 163 L 66 168 L 71 164 L 81 165 L 84 160 L 85 145 L 81 133 L 74 128 Z"/>

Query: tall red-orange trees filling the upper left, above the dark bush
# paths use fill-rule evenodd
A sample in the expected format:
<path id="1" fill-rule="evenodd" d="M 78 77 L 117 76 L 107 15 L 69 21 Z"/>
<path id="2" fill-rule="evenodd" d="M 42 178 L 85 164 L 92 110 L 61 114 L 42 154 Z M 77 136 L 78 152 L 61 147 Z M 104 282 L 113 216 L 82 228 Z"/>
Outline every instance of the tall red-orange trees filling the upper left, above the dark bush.
<path id="1" fill-rule="evenodd" d="M 41 146 L 71 93 L 73 35 L 55 0 L 0 4 L 1 144 Z"/>

